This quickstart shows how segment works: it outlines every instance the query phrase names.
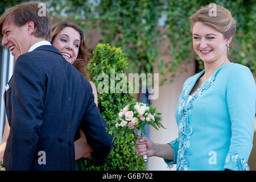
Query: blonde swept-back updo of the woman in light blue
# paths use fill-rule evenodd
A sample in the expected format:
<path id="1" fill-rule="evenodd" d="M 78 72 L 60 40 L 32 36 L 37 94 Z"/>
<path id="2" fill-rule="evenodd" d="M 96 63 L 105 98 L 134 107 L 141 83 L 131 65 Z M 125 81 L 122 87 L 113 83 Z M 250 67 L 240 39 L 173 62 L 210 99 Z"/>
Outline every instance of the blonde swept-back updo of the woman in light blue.
<path id="1" fill-rule="evenodd" d="M 213 9 L 213 6 L 216 6 L 216 9 Z M 210 14 L 214 10 L 216 12 Z M 225 39 L 229 39 L 236 32 L 236 20 L 232 18 L 230 11 L 214 3 L 202 6 L 189 19 L 191 20 L 191 29 L 196 22 L 201 22 L 216 28 L 217 31 L 224 35 Z"/>

